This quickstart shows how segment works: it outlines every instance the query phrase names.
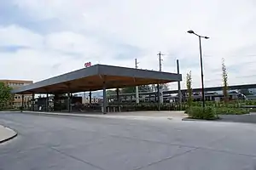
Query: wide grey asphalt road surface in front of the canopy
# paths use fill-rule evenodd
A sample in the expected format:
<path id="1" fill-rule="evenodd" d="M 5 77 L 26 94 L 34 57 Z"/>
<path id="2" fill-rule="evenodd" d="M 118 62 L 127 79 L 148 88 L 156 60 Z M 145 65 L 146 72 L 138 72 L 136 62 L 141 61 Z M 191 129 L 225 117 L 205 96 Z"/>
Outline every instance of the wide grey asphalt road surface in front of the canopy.
<path id="1" fill-rule="evenodd" d="M 0 113 L 0 170 L 256 169 L 256 125 Z"/>

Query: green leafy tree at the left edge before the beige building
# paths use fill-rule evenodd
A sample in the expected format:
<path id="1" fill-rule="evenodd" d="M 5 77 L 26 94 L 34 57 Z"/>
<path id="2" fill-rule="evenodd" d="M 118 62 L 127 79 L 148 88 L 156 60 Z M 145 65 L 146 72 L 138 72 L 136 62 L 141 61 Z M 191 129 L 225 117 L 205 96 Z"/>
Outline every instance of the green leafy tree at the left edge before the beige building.
<path id="1" fill-rule="evenodd" d="M 6 108 L 9 102 L 14 99 L 14 95 L 11 94 L 12 88 L 0 82 L 0 110 Z"/>

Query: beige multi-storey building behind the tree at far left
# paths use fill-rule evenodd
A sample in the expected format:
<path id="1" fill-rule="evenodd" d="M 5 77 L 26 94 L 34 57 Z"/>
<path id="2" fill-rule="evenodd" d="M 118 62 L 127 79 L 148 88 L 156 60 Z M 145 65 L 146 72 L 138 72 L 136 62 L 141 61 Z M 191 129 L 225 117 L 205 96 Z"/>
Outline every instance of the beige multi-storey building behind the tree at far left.
<path id="1" fill-rule="evenodd" d="M 11 88 L 19 88 L 20 86 L 26 86 L 28 84 L 33 83 L 32 81 L 25 81 L 25 80 L 0 80 L 0 82 L 9 85 Z M 28 101 L 32 99 L 32 94 L 24 95 L 24 105 L 26 106 Z M 22 95 L 15 94 L 15 99 L 12 103 L 9 104 L 10 108 L 20 107 L 22 104 Z"/>

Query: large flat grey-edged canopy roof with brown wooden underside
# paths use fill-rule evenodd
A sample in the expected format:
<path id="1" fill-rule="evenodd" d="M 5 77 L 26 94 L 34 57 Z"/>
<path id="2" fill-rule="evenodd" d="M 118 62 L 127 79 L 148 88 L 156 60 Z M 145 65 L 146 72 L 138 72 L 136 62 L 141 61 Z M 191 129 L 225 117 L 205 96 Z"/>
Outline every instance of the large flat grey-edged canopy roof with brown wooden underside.
<path id="1" fill-rule="evenodd" d="M 182 81 L 182 75 L 113 65 L 92 65 L 78 71 L 16 88 L 13 94 L 76 93 L 103 88 L 124 88 L 143 84 Z"/>

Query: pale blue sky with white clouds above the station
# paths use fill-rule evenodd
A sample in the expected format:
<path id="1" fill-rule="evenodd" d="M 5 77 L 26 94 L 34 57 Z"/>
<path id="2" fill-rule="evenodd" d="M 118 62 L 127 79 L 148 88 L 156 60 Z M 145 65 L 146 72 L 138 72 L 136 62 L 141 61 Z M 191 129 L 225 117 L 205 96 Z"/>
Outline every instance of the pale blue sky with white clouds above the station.
<path id="1" fill-rule="evenodd" d="M 0 79 L 37 82 L 75 71 L 84 62 L 176 72 L 185 87 L 201 86 L 202 39 L 206 87 L 256 82 L 256 3 L 253 0 L 9 0 L 0 1 Z M 172 88 L 176 83 L 172 83 Z"/>

